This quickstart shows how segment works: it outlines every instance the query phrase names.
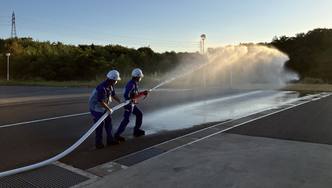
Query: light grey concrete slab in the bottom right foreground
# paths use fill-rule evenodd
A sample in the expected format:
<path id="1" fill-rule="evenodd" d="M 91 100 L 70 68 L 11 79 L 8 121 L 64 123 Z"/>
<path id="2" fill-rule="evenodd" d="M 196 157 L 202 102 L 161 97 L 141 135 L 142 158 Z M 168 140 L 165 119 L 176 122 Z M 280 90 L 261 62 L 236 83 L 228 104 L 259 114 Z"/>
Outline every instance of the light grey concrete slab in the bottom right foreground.
<path id="1" fill-rule="evenodd" d="M 218 133 L 85 187 L 331 187 L 332 146 Z"/>

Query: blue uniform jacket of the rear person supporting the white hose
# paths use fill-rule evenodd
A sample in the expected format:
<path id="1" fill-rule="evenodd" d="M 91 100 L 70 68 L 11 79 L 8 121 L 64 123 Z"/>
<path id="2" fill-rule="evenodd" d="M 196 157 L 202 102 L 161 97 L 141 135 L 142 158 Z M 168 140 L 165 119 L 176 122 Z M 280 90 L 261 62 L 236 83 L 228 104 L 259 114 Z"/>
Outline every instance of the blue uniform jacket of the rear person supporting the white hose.
<path id="1" fill-rule="evenodd" d="M 89 100 L 89 108 L 96 112 L 104 112 L 105 109 L 99 102 L 104 101 L 108 104 L 112 100 L 110 99 L 111 95 L 115 95 L 114 86 L 112 85 L 108 87 L 107 80 L 105 80 L 92 92 Z"/>

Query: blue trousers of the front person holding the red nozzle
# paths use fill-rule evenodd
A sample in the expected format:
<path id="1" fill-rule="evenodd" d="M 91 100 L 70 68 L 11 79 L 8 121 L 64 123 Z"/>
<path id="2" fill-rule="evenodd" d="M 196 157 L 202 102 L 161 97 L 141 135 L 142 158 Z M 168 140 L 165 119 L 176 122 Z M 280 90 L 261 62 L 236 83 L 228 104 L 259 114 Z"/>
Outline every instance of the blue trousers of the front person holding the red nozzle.
<path id="1" fill-rule="evenodd" d="M 125 105 L 124 109 L 125 109 L 125 113 L 123 115 L 124 119 L 120 123 L 120 126 L 119 126 L 117 132 L 114 134 L 115 137 L 119 137 L 121 135 L 121 133 L 125 130 L 126 126 L 128 125 L 128 123 L 130 121 L 131 114 L 136 116 L 136 124 L 134 126 L 134 131 L 140 130 L 140 127 L 142 126 L 143 112 L 141 111 L 139 106 L 137 106 L 136 104 L 134 106 Z"/>

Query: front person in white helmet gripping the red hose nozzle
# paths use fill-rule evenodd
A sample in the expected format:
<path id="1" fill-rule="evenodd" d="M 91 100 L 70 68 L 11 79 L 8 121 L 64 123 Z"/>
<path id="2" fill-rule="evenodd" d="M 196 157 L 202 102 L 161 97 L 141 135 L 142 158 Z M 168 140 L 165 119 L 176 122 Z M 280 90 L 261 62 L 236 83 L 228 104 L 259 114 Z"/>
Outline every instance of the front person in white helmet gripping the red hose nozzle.
<path id="1" fill-rule="evenodd" d="M 123 90 L 123 100 L 130 100 L 133 99 L 129 104 L 124 106 L 125 112 L 124 112 L 124 119 L 121 122 L 117 132 L 114 134 L 114 139 L 117 141 L 125 141 L 126 139 L 124 137 L 121 137 L 121 133 L 125 130 L 126 126 L 130 122 L 131 114 L 136 116 L 136 123 L 134 126 L 134 135 L 135 136 L 142 136 L 145 135 L 145 131 L 141 130 L 140 127 L 143 122 L 143 112 L 137 106 L 135 96 L 139 95 L 139 86 L 137 85 L 137 82 L 140 82 L 143 75 L 143 72 L 141 69 L 134 69 L 131 73 L 132 79 L 129 80 L 129 82 L 126 84 L 124 90 Z M 145 95 L 147 95 L 149 92 L 145 91 Z"/>

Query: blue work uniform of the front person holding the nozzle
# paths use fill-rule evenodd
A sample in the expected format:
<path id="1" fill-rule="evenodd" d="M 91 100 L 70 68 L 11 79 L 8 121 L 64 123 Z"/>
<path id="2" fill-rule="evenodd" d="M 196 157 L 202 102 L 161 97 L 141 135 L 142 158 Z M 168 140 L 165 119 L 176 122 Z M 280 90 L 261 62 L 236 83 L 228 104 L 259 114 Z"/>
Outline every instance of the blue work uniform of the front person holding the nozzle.
<path id="1" fill-rule="evenodd" d="M 123 90 L 123 101 L 130 100 L 132 96 L 139 94 L 139 86 L 137 86 L 137 83 L 135 80 L 131 79 L 126 84 L 124 90 Z M 136 102 L 136 101 L 134 101 Z M 136 104 L 130 102 L 129 104 L 124 106 L 125 112 L 124 112 L 124 119 L 120 123 L 120 126 L 117 130 L 117 132 L 114 134 L 115 137 L 120 137 L 121 133 L 125 130 L 126 126 L 130 122 L 131 114 L 136 116 L 136 123 L 134 126 L 134 131 L 140 130 L 140 127 L 142 126 L 143 122 L 143 112 L 137 106 Z"/>

